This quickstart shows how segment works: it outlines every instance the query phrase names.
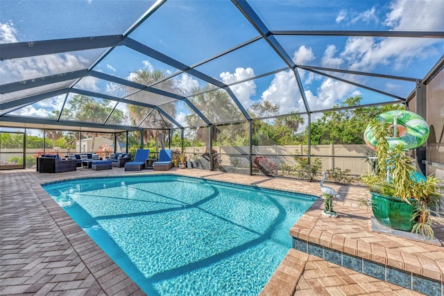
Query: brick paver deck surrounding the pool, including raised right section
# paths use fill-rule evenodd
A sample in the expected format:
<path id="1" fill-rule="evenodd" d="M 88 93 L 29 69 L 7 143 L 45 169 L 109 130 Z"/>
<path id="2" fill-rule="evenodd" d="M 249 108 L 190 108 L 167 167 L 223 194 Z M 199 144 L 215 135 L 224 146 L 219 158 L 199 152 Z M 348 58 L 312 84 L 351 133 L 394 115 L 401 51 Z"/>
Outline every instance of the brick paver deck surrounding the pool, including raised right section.
<path id="1" fill-rule="evenodd" d="M 153 171 L 125 172 L 123 168 L 79 169 L 58 174 L 31 169 L 0 171 L 0 295 L 144 295 L 40 186 L 70 178 L 141 173 Z M 318 182 L 198 169 L 173 169 L 168 173 L 321 195 Z M 368 191 L 361 186 L 329 186 L 345 197 L 334 206 L 339 218 L 322 216 L 316 202 L 292 227 L 293 238 L 355 254 L 371 262 L 395 265 L 436 278 L 442 284 L 443 247 L 371 232 L 370 214 L 357 207 L 357 200 Z M 443 241 L 441 228 L 436 229 L 436 236 Z M 419 294 L 292 249 L 261 295 Z"/>

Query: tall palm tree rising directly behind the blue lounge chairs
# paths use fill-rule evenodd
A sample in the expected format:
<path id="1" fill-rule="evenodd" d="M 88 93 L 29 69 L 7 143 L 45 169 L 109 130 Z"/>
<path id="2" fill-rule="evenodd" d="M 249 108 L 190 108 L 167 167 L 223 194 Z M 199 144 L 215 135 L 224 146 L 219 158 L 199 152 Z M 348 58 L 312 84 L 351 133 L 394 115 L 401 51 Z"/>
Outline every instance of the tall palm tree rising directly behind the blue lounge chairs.
<path id="1" fill-rule="evenodd" d="M 167 75 L 163 73 L 162 70 L 139 70 L 136 72 L 136 75 L 133 77 L 133 81 L 140 83 L 142 85 L 151 85 L 153 82 L 162 80 L 166 78 Z M 179 93 L 180 89 L 178 89 L 172 80 L 164 80 L 162 82 L 162 90 L 166 92 L 171 93 Z M 128 87 L 128 93 L 133 92 L 134 89 Z M 159 101 L 159 95 L 153 94 L 151 92 L 137 92 L 136 94 L 133 94 L 131 96 L 131 99 L 138 101 L 138 102 L 155 102 Z M 138 105 L 130 105 L 128 104 L 128 115 L 130 118 L 130 122 L 133 125 L 138 125 L 142 122 L 142 120 L 148 115 L 148 113 L 151 111 L 150 108 L 142 107 Z M 176 116 L 176 102 L 173 103 L 167 103 L 161 106 L 162 110 L 164 112 L 167 112 L 167 114 L 171 115 L 173 118 Z M 151 112 L 151 114 L 146 119 L 148 121 L 148 125 L 155 128 L 155 130 L 146 130 L 144 129 L 144 143 L 148 143 L 151 139 L 155 139 L 155 149 L 156 152 L 158 152 L 158 143 L 160 142 L 160 146 L 162 149 L 165 148 L 165 138 L 167 137 L 166 134 L 163 133 L 163 130 L 166 130 L 168 128 L 171 128 L 168 126 L 164 119 L 162 118 L 161 114 L 157 111 Z"/>

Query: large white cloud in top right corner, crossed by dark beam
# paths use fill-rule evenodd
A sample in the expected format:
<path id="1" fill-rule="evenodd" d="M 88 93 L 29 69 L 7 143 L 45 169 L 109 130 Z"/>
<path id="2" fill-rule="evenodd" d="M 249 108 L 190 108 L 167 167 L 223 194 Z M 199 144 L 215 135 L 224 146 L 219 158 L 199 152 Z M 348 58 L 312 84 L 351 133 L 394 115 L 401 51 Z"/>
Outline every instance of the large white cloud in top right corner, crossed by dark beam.
<path id="1" fill-rule="evenodd" d="M 444 5 L 434 0 L 396 0 L 383 24 L 393 31 L 442 31 Z M 375 7 L 355 17 L 355 21 L 377 21 Z M 378 65 L 390 64 L 393 69 L 406 69 L 413 59 L 436 55 L 432 46 L 436 39 L 349 37 L 341 53 L 327 46 L 324 67 L 346 67 L 355 71 L 373 71 Z"/>

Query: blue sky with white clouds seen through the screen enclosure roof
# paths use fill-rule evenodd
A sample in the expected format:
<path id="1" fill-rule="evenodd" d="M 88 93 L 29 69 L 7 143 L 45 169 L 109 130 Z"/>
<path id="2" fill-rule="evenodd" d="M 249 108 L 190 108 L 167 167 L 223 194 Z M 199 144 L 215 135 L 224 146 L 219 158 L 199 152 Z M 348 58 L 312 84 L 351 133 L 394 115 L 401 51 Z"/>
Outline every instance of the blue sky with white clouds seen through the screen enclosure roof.
<path id="1" fill-rule="evenodd" d="M 154 1 L 12 1 L 0 2 L 0 42 L 24 42 L 68 37 L 121 34 L 153 4 Z M 18 3 L 18 5 L 17 5 Z M 352 31 L 444 31 L 442 0 L 395 1 L 248 1 L 271 31 L 286 30 L 352 30 Z M 259 33 L 231 1 L 172 1 L 164 3 L 129 37 L 192 66 Z M 393 76 L 423 78 L 444 53 L 441 39 L 275 36 L 296 64 L 326 68 L 350 69 Z M 103 50 L 62 53 L 45 57 L 1 62 L 2 81 L 46 76 L 83 69 L 99 58 Z M 228 53 L 199 71 L 227 84 L 286 67 L 264 40 Z M 130 80 L 139 69 L 177 69 L 151 57 L 120 46 L 95 68 Z M 355 87 L 308 71 L 299 71 L 311 111 L 325 110 L 361 95 L 361 103 L 393 101 L 393 98 Z M 348 76 L 368 87 L 405 97 L 414 82 Z M 187 73 L 173 78 L 188 92 L 207 82 Z M 1 82 L 5 83 L 5 82 Z M 80 80 L 78 88 L 103 94 L 119 94 L 119 86 L 96 78 Z M 300 92 L 291 71 L 250 80 L 231 87 L 244 107 L 257 101 L 280 105 L 280 114 L 303 112 Z M 60 108 L 62 100 L 54 98 L 36 103 L 15 114 L 44 116 Z M 176 119 L 184 124 L 190 111 L 181 105 Z M 126 107 L 118 106 L 126 111 Z"/>

